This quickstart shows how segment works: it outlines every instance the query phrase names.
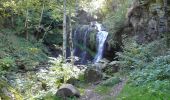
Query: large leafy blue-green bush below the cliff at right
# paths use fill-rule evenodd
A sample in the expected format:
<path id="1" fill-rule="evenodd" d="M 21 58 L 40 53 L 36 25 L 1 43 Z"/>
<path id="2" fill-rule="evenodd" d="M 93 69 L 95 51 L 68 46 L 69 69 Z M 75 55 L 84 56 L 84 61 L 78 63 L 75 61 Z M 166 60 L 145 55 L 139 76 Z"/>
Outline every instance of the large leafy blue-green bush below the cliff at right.
<path id="1" fill-rule="evenodd" d="M 130 84 L 156 94 L 169 89 L 170 54 L 164 43 L 164 39 L 144 45 L 133 41 L 118 53 L 122 72 L 129 74 Z"/>

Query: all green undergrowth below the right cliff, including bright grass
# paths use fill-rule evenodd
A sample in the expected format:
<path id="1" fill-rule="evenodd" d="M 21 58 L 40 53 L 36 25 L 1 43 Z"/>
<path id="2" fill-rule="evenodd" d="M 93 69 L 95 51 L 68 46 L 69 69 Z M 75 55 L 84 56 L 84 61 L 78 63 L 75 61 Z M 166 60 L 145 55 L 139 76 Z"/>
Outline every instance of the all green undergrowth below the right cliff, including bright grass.
<path id="1" fill-rule="evenodd" d="M 129 76 L 120 100 L 168 100 L 170 54 L 165 40 L 144 45 L 128 42 L 124 52 L 118 53 L 121 71 Z"/>

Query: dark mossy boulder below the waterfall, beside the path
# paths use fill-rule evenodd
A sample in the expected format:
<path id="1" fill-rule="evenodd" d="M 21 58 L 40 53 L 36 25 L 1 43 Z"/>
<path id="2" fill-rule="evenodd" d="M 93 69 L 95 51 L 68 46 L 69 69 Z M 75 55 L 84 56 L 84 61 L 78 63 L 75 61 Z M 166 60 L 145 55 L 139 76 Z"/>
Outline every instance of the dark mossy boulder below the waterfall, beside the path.
<path id="1" fill-rule="evenodd" d="M 90 69 L 86 69 L 84 77 L 87 82 L 95 83 L 101 81 L 103 75 L 97 69 L 90 68 Z"/>

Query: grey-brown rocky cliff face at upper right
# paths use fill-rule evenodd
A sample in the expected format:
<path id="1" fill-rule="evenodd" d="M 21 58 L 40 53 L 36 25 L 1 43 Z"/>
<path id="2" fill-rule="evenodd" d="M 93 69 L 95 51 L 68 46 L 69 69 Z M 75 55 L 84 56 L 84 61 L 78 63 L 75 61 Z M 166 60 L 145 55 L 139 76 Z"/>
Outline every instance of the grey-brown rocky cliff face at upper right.
<path id="1" fill-rule="evenodd" d="M 135 0 L 126 16 L 128 28 L 133 31 L 124 29 L 123 33 L 135 35 L 139 44 L 159 39 L 162 33 L 170 31 L 169 7 L 164 0 Z"/>

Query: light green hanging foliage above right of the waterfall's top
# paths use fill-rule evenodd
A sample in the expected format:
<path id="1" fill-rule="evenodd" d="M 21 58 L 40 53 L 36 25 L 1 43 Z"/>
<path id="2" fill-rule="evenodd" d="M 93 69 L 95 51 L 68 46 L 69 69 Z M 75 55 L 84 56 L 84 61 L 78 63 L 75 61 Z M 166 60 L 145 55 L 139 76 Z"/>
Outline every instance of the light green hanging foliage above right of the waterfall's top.
<path id="1" fill-rule="evenodd" d="M 112 3 L 116 4 L 115 10 L 108 12 L 104 20 L 104 25 L 111 33 L 117 32 L 125 22 L 125 15 L 127 13 L 127 8 L 132 3 L 133 0 L 113 0 Z M 110 3 L 110 4 L 112 4 Z"/>

